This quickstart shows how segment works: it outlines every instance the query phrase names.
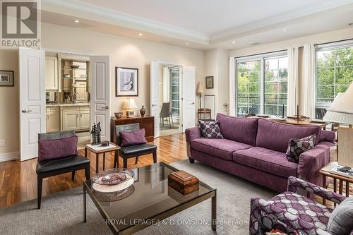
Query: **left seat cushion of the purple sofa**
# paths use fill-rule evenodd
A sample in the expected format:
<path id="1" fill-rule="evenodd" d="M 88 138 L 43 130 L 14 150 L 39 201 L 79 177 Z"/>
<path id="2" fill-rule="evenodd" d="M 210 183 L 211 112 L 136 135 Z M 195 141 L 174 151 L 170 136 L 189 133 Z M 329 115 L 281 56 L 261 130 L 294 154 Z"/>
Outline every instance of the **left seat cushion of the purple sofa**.
<path id="1" fill-rule="evenodd" d="M 245 150 L 252 146 L 227 139 L 200 138 L 193 140 L 191 147 L 194 150 L 232 161 L 234 151 Z"/>

